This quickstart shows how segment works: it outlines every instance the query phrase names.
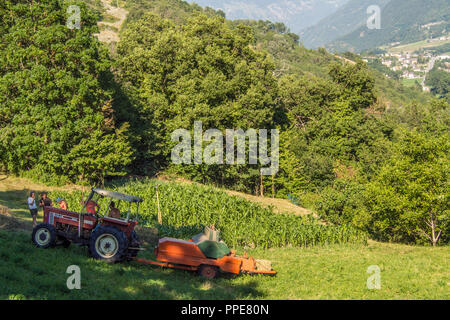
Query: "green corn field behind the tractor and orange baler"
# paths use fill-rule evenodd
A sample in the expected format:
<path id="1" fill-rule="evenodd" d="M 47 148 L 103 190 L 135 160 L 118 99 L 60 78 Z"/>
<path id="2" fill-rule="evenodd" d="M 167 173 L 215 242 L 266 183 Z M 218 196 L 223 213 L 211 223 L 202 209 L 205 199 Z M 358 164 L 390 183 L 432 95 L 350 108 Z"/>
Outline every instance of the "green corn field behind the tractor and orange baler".
<path id="1" fill-rule="evenodd" d="M 157 222 L 156 184 L 159 185 L 162 225 Z M 349 225 L 323 225 L 312 216 L 275 214 L 272 209 L 211 187 L 148 179 L 128 181 L 108 189 L 141 197 L 144 202 L 139 206 L 140 215 L 134 218 L 141 225 L 157 227 L 160 236 L 189 239 L 205 225 L 214 224 L 221 230 L 222 239 L 232 247 L 307 247 L 367 241 L 365 233 Z M 70 210 L 82 209 L 80 191 L 54 191 L 49 196 L 53 200 L 63 197 Z M 100 215 L 108 202 L 109 199 L 98 201 Z M 122 202 L 119 209 L 126 212 L 128 207 Z M 135 213 L 135 208 L 131 211 Z"/>

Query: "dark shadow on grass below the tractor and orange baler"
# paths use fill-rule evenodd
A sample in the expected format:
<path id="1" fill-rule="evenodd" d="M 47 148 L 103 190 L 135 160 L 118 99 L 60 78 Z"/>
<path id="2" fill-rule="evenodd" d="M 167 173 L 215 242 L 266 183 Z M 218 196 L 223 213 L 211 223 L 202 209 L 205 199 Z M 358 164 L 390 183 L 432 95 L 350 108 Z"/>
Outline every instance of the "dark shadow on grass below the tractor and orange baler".
<path id="1" fill-rule="evenodd" d="M 195 272 L 137 262 L 106 264 L 89 258 L 86 247 L 37 249 L 27 232 L 0 230 L 0 299 L 261 299 L 250 277 L 204 280 Z M 67 267 L 78 265 L 81 289 L 66 286 Z"/>

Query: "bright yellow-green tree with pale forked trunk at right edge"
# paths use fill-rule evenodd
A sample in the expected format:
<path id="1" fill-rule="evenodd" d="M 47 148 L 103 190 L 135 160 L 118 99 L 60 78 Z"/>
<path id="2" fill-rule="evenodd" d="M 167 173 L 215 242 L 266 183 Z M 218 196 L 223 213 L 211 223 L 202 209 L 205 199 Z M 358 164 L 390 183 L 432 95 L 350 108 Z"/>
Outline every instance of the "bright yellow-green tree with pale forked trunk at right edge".
<path id="1" fill-rule="evenodd" d="M 448 241 L 449 141 L 448 133 L 404 132 L 398 152 L 366 187 L 361 225 L 382 240 Z"/>

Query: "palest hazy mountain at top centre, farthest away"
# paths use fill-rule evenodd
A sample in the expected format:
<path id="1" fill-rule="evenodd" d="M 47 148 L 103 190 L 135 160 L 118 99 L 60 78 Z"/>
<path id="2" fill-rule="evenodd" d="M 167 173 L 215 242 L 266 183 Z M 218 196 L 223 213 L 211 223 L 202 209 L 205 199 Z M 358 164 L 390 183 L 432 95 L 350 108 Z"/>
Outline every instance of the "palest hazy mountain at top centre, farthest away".
<path id="1" fill-rule="evenodd" d="M 292 32 L 314 25 L 349 0 L 187 0 L 220 9 L 227 19 L 283 22 Z"/>

